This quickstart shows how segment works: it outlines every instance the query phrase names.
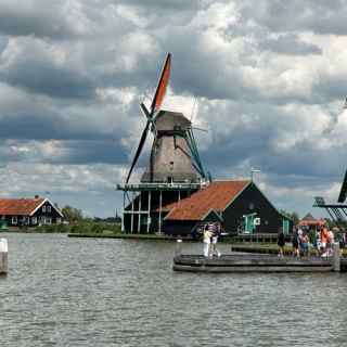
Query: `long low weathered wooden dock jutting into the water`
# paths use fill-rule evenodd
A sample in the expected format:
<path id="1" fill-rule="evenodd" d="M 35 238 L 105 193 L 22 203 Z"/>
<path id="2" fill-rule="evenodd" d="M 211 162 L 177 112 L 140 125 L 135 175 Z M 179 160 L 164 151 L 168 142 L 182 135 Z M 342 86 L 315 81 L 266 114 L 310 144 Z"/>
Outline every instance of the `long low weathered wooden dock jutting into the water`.
<path id="1" fill-rule="evenodd" d="M 205 258 L 203 255 L 181 253 L 178 242 L 174 258 L 175 271 L 188 272 L 347 272 L 347 259 L 340 257 L 339 246 L 335 244 L 332 257 L 279 257 L 266 254 L 229 254 L 221 257 Z"/>

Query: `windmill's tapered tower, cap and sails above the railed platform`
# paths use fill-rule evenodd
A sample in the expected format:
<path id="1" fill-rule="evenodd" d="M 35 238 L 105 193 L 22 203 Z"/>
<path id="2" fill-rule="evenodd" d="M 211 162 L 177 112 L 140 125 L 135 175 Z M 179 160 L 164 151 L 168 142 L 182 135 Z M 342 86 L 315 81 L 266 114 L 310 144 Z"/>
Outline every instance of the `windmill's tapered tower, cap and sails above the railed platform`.
<path id="1" fill-rule="evenodd" d="M 141 182 L 196 182 L 208 179 L 197 151 L 192 123 L 181 113 L 160 108 L 170 77 L 170 66 L 171 54 L 168 53 L 150 110 L 143 102 L 140 104 L 146 124 L 126 183 L 130 180 L 150 131 L 154 140 L 150 163 Z"/>

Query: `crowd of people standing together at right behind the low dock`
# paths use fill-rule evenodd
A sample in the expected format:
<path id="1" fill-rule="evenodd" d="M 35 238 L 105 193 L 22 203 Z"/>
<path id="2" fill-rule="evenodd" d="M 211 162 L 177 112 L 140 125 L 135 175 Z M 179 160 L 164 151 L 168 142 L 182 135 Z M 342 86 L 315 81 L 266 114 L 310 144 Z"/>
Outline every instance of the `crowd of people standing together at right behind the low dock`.
<path id="1" fill-rule="evenodd" d="M 333 254 L 334 232 L 326 227 L 318 228 L 310 232 L 303 228 L 295 228 L 292 235 L 293 256 L 299 257 L 309 255 L 309 246 L 312 245 L 322 257 Z M 278 234 L 279 256 L 283 256 L 285 235 L 281 230 Z"/>

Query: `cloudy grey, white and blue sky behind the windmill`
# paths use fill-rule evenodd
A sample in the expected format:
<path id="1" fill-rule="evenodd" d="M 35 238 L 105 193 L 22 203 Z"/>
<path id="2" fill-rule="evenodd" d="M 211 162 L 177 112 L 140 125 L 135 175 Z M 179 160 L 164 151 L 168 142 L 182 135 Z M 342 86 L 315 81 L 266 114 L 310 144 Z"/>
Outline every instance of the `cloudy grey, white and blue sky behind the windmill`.
<path id="1" fill-rule="evenodd" d="M 213 177 L 260 169 L 278 208 L 324 216 L 312 196 L 336 201 L 347 167 L 346 17 L 344 0 L 0 0 L 1 195 L 120 210 L 170 51 L 164 106 L 209 129 Z"/>

